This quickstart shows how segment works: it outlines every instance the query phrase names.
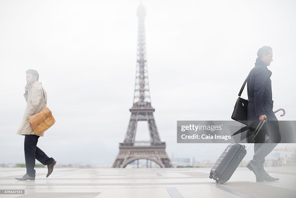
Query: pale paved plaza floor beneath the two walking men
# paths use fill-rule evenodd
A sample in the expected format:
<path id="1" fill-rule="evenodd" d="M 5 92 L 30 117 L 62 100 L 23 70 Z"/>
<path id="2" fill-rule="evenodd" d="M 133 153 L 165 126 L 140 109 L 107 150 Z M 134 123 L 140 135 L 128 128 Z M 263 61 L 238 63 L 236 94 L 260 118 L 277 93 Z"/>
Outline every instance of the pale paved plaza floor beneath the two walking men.
<path id="1" fill-rule="evenodd" d="M 296 167 L 266 167 L 275 182 L 256 183 L 246 167 L 239 167 L 225 184 L 216 184 L 210 168 L 35 168 L 36 179 L 15 180 L 25 168 L 0 168 L 0 189 L 24 189 L 25 194 L 0 197 L 296 197 Z"/>

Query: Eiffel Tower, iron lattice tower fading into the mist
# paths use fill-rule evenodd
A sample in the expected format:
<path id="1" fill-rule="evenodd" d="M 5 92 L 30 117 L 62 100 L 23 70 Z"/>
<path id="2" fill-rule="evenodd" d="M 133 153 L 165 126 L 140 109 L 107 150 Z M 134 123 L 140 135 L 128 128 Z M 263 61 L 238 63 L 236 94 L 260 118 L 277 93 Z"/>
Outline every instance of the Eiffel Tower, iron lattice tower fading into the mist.
<path id="1" fill-rule="evenodd" d="M 172 167 L 172 164 L 165 152 L 165 142 L 160 141 L 153 116 L 155 109 L 151 106 L 150 100 L 144 24 L 146 11 L 142 3 L 138 6 L 137 16 L 139 19 L 139 29 L 133 107 L 130 109 L 131 118 L 126 136 L 123 143 L 119 143 L 119 153 L 112 167 L 124 168 L 135 160 L 138 161 L 139 167 L 139 159 L 147 159 L 147 167 L 148 160 L 150 160 L 150 167 L 151 161 L 154 161 L 162 168 L 169 168 Z M 150 141 L 135 141 L 138 121 L 147 121 Z"/>

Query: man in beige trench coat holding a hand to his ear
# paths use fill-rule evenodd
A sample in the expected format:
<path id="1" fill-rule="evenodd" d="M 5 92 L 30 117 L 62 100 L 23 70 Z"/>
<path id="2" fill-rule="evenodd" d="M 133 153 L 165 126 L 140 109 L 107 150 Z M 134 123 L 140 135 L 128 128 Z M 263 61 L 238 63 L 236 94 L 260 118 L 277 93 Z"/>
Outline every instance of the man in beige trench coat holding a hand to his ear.
<path id="1" fill-rule="evenodd" d="M 29 69 L 26 71 L 27 85 L 25 86 L 24 97 L 27 102 L 22 123 L 17 132 L 18 135 L 25 135 L 25 161 L 27 173 L 17 180 L 35 180 L 35 159 L 40 161 L 43 165 L 47 165 L 48 177 L 56 164 L 53 158 L 49 158 L 40 148 L 37 147 L 38 138 L 43 136 L 43 133 L 36 135 L 30 126 L 28 118 L 31 115 L 39 113 L 46 107 L 47 94 L 41 82 L 38 82 L 39 74 L 36 70 Z"/>

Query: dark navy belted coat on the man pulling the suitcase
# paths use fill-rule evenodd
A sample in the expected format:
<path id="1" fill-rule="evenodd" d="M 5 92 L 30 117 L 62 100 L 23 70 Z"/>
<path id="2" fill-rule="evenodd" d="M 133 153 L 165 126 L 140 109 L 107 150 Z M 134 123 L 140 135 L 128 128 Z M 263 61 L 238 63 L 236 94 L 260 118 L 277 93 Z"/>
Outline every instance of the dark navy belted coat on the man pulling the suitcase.
<path id="1" fill-rule="evenodd" d="M 266 115 L 267 121 L 274 121 L 279 126 L 272 110 L 271 74 L 261 58 L 257 58 L 247 78 L 248 121 L 259 121 L 259 115 Z"/>

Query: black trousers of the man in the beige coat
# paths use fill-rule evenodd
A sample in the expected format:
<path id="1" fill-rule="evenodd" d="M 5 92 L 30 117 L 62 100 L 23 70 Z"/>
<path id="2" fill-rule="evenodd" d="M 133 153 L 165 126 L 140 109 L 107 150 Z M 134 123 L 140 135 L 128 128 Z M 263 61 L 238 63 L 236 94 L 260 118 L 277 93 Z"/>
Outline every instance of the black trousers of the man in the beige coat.
<path id="1" fill-rule="evenodd" d="M 25 161 L 27 174 L 30 177 L 35 177 L 35 159 L 40 161 L 43 165 L 51 164 L 54 161 L 53 158 L 49 158 L 40 148 L 37 147 L 39 137 L 40 136 L 38 135 L 25 135 Z"/>

